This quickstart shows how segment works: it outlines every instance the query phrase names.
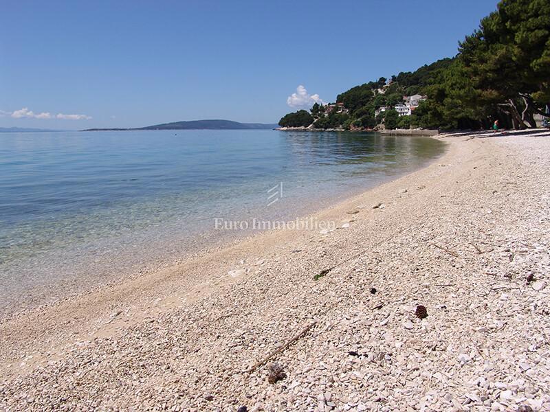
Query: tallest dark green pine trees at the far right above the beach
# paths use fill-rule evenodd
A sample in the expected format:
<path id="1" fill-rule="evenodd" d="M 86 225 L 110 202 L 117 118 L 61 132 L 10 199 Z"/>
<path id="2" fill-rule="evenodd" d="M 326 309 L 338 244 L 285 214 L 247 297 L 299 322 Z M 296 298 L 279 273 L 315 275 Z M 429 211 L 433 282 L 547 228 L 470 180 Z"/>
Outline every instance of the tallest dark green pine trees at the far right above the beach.
<path id="1" fill-rule="evenodd" d="M 550 102 L 550 1 L 500 1 L 460 43 L 460 58 L 480 104 L 535 126 Z"/>

